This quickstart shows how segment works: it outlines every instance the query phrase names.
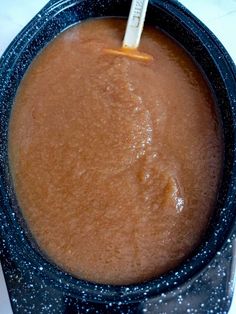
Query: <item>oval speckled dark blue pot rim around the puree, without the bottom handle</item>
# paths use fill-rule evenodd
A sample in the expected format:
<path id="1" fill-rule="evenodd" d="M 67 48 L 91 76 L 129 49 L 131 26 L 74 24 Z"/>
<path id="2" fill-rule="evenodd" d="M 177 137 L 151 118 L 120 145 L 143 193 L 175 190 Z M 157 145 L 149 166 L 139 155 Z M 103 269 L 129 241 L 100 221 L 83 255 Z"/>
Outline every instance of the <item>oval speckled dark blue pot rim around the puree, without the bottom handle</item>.
<path id="1" fill-rule="evenodd" d="M 172 36 L 201 68 L 215 97 L 225 144 L 216 210 L 202 244 L 182 265 L 155 280 L 111 286 L 78 280 L 59 269 L 43 256 L 27 229 L 12 186 L 7 149 L 9 117 L 21 79 L 33 58 L 60 32 L 88 18 L 126 17 L 129 6 L 130 1 L 126 0 L 50 1 L 14 39 L 0 61 L 0 230 L 4 247 L 22 272 L 37 274 L 44 283 L 64 294 L 100 303 L 147 300 L 174 291 L 190 279 L 197 280 L 223 254 L 236 231 L 235 67 L 216 37 L 173 0 L 150 1 L 146 23 Z"/>

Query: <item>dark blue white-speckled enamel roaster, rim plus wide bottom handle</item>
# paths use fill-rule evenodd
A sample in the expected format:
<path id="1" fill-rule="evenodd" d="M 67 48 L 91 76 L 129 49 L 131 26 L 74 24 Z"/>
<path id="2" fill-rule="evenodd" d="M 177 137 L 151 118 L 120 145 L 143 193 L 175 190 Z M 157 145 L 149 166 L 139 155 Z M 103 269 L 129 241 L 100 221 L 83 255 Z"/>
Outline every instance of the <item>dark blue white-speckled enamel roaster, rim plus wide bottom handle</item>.
<path id="1" fill-rule="evenodd" d="M 220 314 L 230 307 L 236 257 L 236 71 L 214 35 L 174 0 L 150 1 L 147 23 L 174 37 L 199 64 L 210 82 L 224 131 L 222 184 L 202 245 L 178 269 L 151 282 L 96 285 L 47 261 L 19 211 L 7 136 L 22 76 L 37 53 L 67 27 L 92 17 L 127 16 L 129 6 L 126 0 L 52 0 L 0 59 L 0 259 L 14 313 Z"/>

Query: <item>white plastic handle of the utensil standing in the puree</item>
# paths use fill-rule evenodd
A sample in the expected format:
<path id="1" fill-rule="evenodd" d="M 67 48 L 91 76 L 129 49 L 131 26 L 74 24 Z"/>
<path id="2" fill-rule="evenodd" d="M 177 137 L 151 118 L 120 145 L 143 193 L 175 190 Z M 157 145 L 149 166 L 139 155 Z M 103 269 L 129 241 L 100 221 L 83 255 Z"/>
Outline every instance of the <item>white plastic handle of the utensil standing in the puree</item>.
<path id="1" fill-rule="evenodd" d="M 138 48 L 143 31 L 147 6 L 148 0 L 132 0 L 125 37 L 123 40 L 124 48 Z"/>

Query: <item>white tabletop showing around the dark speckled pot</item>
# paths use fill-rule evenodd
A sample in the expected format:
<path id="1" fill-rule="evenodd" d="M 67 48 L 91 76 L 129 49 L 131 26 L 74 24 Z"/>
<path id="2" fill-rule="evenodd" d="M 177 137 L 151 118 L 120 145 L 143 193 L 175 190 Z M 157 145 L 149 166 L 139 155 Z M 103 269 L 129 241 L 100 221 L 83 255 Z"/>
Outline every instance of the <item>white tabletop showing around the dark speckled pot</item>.
<path id="1" fill-rule="evenodd" d="M 48 0 L 0 0 L 0 56 Z M 220 39 L 236 63 L 236 0 L 181 0 Z M 0 314 L 10 314 L 0 266 Z M 230 314 L 236 313 L 236 293 Z M 218 313 L 215 313 L 218 314 Z"/>

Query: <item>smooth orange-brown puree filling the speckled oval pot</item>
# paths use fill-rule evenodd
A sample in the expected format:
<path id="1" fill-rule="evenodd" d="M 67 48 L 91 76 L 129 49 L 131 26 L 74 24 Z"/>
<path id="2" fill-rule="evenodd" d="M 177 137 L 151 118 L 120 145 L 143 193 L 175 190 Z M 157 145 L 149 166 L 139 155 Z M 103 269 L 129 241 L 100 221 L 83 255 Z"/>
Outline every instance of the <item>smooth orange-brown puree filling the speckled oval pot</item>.
<path id="1" fill-rule="evenodd" d="M 221 130 L 187 53 L 146 28 L 142 62 L 122 20 L 82 23 L 35 59 L 18 90 L 9 152 L 23 215 L 42 251 L 78 278 L 130 284 L 199 244 L 221 173 Z"/>

